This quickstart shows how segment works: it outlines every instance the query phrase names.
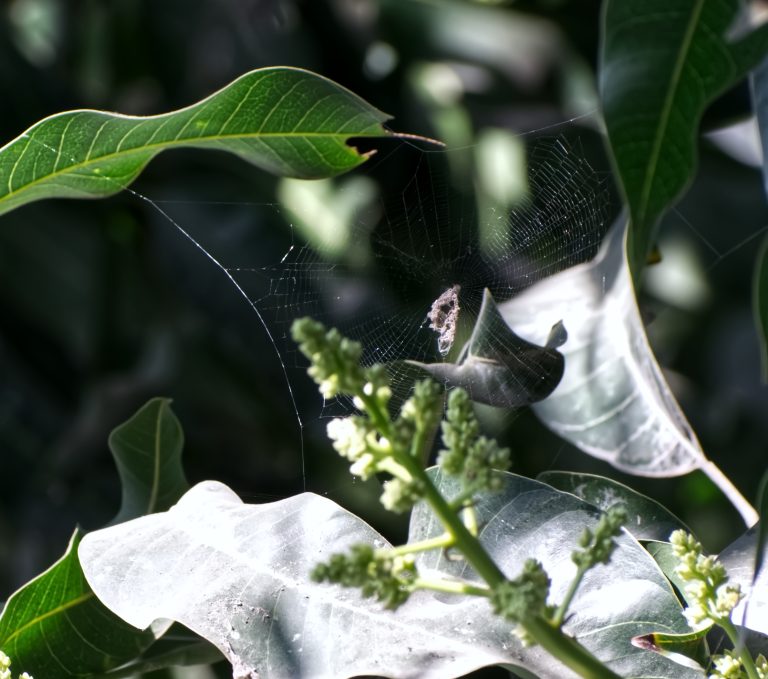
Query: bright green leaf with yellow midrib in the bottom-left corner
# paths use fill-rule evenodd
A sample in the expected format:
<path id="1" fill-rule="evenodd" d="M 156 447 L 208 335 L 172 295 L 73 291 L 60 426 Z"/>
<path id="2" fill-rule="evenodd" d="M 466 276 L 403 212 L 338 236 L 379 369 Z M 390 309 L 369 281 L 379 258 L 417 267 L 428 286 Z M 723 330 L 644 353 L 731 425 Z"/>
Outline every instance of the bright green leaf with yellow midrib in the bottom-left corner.
<path id="1" fill-rule="evenodd" d="M 123 622 L 93 594 L 77 558 L 75 531 L 64 556 L 8 599 L 0 616 L 0 649 L 15 672 L 34 677 L 101 673 L 155 640 Z"/>

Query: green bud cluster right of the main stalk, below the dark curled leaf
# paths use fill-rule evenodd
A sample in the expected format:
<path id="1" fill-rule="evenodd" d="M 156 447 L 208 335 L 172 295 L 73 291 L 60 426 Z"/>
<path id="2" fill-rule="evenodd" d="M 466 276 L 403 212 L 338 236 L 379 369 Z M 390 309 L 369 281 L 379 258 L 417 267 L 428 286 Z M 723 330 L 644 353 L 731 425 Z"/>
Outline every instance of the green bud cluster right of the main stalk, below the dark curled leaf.
<path id="1" fill-rule="evenodd" d="M 454 389 L 448 396 L 442 433 L 445 448 L 437 462 L 447 474 L 461 479 L 464 491 L 501 489 L 503 477 L 495 472 L 509 469 L 509 448 L 480 436 L 472 402 L 463 389 Z"/>

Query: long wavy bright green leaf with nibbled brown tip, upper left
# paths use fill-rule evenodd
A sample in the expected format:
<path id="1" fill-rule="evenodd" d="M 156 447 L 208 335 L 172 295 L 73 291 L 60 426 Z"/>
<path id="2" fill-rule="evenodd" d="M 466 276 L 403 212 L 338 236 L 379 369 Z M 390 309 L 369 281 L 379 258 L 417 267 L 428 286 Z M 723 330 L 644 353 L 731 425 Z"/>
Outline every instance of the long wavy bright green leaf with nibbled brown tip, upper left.
<path id="1" fill-rule="evenodd" d="M 350 137 L 384 137 L 389 116 L 322 76 L 251 71 L 197 104 L 157 116 L 69 111 L 0 148 L 0 214 L 43 198 L 100 198 L 128 186 L 165 149 L 234 153 L 279 175 L 329 177 L 368 154 Z"/>

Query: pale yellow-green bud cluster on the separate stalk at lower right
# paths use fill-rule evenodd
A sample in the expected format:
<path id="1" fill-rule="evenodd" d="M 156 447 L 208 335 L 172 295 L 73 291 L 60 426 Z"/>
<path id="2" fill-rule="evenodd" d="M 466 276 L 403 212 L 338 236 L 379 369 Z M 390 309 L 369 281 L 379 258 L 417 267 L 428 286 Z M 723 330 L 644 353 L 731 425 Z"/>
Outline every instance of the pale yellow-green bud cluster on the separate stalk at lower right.
<path id="1" fill-rule="evenodd" d="M 685 582 L 688 607 L 684 615 L 694 627 L 722 624 L 744 595 L 739 585 L 729 585 L 725 567 L 714 557 L 702 554 L 701 543 L 683 530 L 676 530 L 670 542 L 678 560 L 675 572 Z"/>

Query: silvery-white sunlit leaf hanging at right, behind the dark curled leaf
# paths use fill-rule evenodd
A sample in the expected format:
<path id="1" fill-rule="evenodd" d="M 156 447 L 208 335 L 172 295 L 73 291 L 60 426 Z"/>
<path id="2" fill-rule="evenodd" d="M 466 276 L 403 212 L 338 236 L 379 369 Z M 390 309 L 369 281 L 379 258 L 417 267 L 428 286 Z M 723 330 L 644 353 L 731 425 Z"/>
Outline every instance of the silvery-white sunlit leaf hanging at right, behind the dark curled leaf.
<path id="1" fill-rule="evenodd" d="M 499 311 L 531 342 L 560 319 L 568 331 L 563 379 L 533 406 L 550 429 L 622 471 L 685 474 L 704 455 L 648 345 L 624 237 L 614 226 L 591 262 L 536 283 Z"/>

